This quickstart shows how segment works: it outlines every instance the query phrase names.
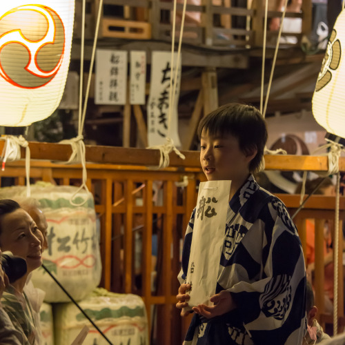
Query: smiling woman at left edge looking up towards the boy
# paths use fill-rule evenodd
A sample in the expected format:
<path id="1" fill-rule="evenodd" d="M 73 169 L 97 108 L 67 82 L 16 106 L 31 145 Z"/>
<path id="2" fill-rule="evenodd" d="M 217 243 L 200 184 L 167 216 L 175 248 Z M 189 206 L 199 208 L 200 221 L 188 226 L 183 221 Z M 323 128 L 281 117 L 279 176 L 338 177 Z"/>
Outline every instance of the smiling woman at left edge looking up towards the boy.
<path id="1" fill-rule="evenodd" d="M 30 215 L 16 201 L 0 200 L 0 247 L 26 259 L 26 275 L 9 285 L 1 297 L 3 309 L 8 313 L 14 328 L 23 332 L 23 344 L 37 345 L 36 324 L 32 306 L 23 293 L 28 275 L 42 264 L 43 238 Z"/>

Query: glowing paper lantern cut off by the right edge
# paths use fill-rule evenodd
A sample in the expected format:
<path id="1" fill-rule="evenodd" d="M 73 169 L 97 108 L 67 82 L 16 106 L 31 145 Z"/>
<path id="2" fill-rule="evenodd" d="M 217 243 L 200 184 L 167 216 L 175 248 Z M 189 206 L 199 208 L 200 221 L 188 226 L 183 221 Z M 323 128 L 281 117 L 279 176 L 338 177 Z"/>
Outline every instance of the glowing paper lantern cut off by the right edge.
<path id="1" fill-rule="evenodd" d="M 313 95 L 313 115 L 333 136 L 345 138 L 345 11 L 343 10 L 328 41 L 322 68 Z"/>

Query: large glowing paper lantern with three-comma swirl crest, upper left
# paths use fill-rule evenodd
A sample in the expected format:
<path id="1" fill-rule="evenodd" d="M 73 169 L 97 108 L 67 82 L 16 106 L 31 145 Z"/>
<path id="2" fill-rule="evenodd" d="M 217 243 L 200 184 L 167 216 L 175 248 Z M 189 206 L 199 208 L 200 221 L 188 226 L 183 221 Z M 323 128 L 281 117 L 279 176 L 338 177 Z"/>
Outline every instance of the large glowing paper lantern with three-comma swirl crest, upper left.
<path id="1" fill-rule="evenodd" d="M 1 1 L 0 126 L 46 119 L 61 101 L 75 0 Z"/>

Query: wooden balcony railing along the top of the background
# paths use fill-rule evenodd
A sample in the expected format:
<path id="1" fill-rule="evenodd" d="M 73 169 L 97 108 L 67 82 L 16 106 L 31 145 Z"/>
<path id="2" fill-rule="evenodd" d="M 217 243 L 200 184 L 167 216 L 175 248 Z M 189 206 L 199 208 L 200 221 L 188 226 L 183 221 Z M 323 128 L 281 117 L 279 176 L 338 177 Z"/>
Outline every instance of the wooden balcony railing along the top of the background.
<path id="1" fill-rule="evenodd" d="M 80 0 L 79 0 L 80 1 Z M 183 0 L 177 3 L 177 38 L 179 22 L 183 10 Z M 88 0 L 90 11 L 87 13 L 86 37 L 92 37 L 99 0 Z M 264 31 L 264 0 L 247 1 L 246 7 L 230 6 L 229 0 L 201 0 L 200 5 L 186 6 L 186 22 L 184 42 L 205 47 L 255 47 L 262 46 Z M 78 0 L 77 0 L 78 5 Z M 171 41 L 172 12 L 171 0 L 104 0 L 103 17 L 99 37 L 124 39 L 153 39 Z M 117 7 L 115 7 L 117 6 Z M 80 6 L 79 6 L 80 7 Z M 297 43 L 303 34 L 311 31 L 311 0 L 304 0 L 299 13 L 286 12 L 286 18 L 302 19 L 302 31 L 299 33 L 283 33 L 296 37 Z M 188 17 L 196 14 L 197 21 Z M 76 28 L 80 16 L 77 13 Z M 282 17 L 282 12 L 268 11 L 268 20 Z M 78 30 L 76 30 L 78 36 Z M 277 37 L 277 32 L 268 32 L 270 42 Z M 273 39 L 273 41 L 272 41 Z"/>

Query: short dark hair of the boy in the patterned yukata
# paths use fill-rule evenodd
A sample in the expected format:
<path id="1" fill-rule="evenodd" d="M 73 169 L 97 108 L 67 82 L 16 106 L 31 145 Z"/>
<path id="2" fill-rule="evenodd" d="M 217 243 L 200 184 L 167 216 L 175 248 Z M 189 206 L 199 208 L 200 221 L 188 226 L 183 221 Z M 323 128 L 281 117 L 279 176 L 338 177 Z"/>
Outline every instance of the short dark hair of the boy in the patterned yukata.
<path id="1" fill-rule="evenodd" d="M 250 161 L 249 170 L 259 170 L 267 141 L 267 128 L 265 119 L 257 108 L 246 104 L 228 103 L 201 119 L 197 130 L 199 139 L 203 130 L 206 130 L 210 137 L 233 135 L 238 139 L 239 148 L 245 154 L 257 148 L 257 154 Z"/>

